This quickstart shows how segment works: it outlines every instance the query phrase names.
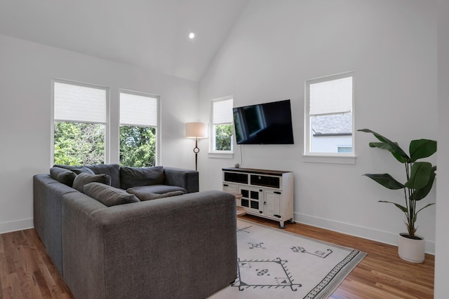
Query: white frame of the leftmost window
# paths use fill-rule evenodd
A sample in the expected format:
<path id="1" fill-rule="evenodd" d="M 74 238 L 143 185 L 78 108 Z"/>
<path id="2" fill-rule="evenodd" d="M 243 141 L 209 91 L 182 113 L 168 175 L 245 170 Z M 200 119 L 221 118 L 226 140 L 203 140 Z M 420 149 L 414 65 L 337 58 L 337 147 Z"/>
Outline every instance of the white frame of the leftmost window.
<path id="1" fill-rule="evenodd" d="M 104 157 L 104 163 L 109 164 L 111 159 L 111 150 L 110 150 L 110 90 L 107 86 L 102 85 L 96 85 L 91 83 L 83 83 L 79 81 L 69 81 L 65 79 L 59 79 L 59 78 L 52 78 L 51 79 L 51 124 L 50 124 L 50 142 L 51 142 L 51 150 L 50 150 L 50 161 L 51 165 L 55 162 L 55 83 L 62 83 L 67 85 L 76 85 L 86 88 L 95 88 L 100 90 L 105 90 L 105 101 L 106 101 L 106 120 L 105 123 L 102 122 L 95 122 L 100 123 L 102 125 L 105 125 L 105 157 Z M 74 123 L 73 120 L 62 120 L 57 119 L 56 121 L 67 121 L 69 123 Z M 84 122 L 80 121 L 79 123 L 93 123 L 93 122 Z"/>

